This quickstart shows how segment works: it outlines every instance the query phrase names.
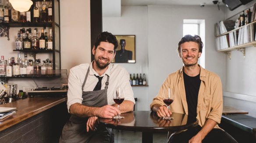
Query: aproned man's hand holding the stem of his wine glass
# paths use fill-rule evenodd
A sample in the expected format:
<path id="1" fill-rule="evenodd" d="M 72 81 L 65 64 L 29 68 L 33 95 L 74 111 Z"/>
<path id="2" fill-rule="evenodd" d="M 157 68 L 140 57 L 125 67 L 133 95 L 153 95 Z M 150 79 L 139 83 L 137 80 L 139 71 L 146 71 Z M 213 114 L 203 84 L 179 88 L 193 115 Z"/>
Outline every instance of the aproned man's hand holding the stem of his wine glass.
<path id="1" fill-rule="evenodd" d="M 96 116 L 101 118 L 113 118 L 114 116 L 117 116 L 117 114 L 121 114 L 121 112 L 117 107 L 111 105 L 102 106 L 96 110 Z"/>

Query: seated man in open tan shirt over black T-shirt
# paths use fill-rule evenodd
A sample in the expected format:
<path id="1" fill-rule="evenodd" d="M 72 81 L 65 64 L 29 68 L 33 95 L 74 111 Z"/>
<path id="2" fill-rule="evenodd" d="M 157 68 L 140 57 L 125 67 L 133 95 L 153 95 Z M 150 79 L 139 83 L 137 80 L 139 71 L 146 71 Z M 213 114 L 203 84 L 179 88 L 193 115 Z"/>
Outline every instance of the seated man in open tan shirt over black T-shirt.
<path id="1" fill-rule="evenodd" d="M 183 67 L 168 75 L 150 109 L 160 118 L 178 112 L 198 119 L 199 126 L 174 134 L 169 140 L 171 143 L 237 143 L 217 125 L 222 115 L 222 85 L 218 75 L 198 65 L 202 49 L 199 36 L 181 38 L 178 54 Z M 162 99 L 163 90 L 168 88 L 174 92 L 171 111 Z"/>

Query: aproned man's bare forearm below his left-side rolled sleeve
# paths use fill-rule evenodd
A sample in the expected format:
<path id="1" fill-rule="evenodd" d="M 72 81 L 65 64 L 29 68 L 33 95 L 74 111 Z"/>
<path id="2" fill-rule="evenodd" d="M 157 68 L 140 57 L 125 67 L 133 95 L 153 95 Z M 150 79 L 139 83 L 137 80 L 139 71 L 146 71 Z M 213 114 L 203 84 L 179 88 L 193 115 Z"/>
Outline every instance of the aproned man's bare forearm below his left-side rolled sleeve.
<path id="1" fill-rule="evenodd" d="M 75 116 L 85 118 L 90 116 L 97 116 L 96 109 L 97 107 L 84 106 L 80 103 L 75 103 L 70 106 L 69 111 Z"/>

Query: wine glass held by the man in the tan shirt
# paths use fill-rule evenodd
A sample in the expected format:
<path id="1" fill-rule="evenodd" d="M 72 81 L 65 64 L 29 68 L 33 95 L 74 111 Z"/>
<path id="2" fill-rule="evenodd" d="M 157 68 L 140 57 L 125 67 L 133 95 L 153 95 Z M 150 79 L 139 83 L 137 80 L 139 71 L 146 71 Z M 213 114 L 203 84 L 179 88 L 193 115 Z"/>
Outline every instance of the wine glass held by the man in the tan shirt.
<path id="1" fill-rule="evenodd" d="M 170 105 L 174 100 L 174 94 L 172 89 L 168 88 L 168 90 L 163 90 L 163 101 L 167 105 L 168 110 L 170 110 Z M 174 119 L 173 117 L 163 117 L 163 119 Z"/>

